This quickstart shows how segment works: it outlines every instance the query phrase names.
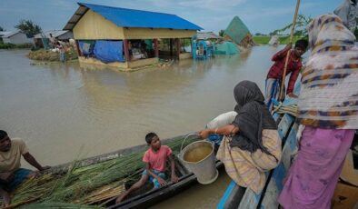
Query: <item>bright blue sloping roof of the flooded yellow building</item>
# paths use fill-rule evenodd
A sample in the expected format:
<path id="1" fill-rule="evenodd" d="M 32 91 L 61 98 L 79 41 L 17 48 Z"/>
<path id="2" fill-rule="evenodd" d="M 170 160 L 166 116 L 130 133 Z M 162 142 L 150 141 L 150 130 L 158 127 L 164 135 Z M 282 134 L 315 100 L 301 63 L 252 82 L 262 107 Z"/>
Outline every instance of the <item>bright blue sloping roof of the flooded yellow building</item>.
<path id="1" fill-rule="evenodd" d="M 184 30 L 202 30 L 203 28 L 184 20 L 177 15 L 126 9 L 106 5 L 78 3 L 80 7 L 71 17 L 64 30 L 72 30 L 88 9 L 104 16 L 105 19 L 120 27 L 170 28 Z"/>

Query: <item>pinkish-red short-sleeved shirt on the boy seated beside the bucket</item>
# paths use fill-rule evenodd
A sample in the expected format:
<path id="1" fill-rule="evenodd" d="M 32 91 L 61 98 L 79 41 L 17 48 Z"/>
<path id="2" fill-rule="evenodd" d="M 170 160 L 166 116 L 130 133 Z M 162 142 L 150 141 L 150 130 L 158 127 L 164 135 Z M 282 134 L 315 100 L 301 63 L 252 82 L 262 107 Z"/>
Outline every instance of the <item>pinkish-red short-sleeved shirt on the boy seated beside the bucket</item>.
<path id="1" fill-rule="evenodd" d="M 143 162 L 149 163 L 150 169 L 164 172 L 166 159 L 172 153 L 172 149 L 167 145 L 161 145 L 156 153 L 154 153 L 152 148 L 149 148 L 143 156 Z"/>

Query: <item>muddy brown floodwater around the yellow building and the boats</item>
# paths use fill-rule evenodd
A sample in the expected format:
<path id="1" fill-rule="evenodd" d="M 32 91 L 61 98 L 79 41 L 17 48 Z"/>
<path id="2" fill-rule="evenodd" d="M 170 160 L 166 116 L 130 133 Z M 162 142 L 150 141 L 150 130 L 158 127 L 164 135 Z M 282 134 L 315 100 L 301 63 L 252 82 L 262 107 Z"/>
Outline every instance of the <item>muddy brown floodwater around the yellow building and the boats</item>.
<path id="1" fill-rule="evenodd" d="M 234 85 L 264 78 L 277 48 L 191 59 L 131 73 L 78 63 L 32 65 L 26 50 L 0 50 L 0 129 L 25 140 L 41 164 L 55 165 L 199 131 L 234 109 Z M 29 167 L 28 164 L 24 166 Z M 154 208 L 213 208 L 230 179 L 195 185 Z"/>

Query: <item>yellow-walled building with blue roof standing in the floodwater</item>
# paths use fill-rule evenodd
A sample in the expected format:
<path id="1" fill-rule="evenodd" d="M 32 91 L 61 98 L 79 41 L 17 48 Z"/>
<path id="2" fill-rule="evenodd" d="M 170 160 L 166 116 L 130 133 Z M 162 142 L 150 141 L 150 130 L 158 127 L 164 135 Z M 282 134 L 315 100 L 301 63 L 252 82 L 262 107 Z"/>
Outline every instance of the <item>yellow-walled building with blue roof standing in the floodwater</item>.
<path id="1" fill-rule="evenodd" d="M 64 30 L 73 31 L 80 63 L 134 68 L 189 58 L 191 37 L 203 29 L 177 15 L 78 5 Z"/>

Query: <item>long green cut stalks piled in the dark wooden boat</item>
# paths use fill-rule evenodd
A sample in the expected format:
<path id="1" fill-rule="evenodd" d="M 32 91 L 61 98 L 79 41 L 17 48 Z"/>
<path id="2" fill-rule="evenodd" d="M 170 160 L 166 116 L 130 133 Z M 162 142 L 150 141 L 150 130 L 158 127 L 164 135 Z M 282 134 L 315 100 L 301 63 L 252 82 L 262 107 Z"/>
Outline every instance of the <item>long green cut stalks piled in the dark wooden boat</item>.
<path id="1" fill-rule="evenodd" d="M 180 152 L 183 139 L 184 137 L 177 137 L 167 144 L 174 154 Z M 197 139 L 188 139 L 184 145 L 195 140 Z M 66 174 L 43 174 L 29 179 L 15 190 L 10 206 L 34 202 L 36 205 L 101 204 L 124 192 L 126 182 L 139 178 L 140 170 L 144 168 L 144 152 L 145 150 L 87 166 L 80 166 L 79 162 L 75 162 Z"/>

